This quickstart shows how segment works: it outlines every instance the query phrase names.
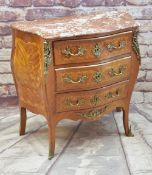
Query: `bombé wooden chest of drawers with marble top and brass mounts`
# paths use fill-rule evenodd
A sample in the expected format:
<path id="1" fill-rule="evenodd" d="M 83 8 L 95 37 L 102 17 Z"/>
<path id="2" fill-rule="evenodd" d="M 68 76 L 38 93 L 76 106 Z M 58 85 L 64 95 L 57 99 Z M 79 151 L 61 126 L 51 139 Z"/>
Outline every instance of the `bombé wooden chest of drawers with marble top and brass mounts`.
<path id="1" fill-rule="evenodd" d="M 42 114 L 51 158 L 60 120 L 98 120 L 122 109 L 130 136 L 129 103 L 140 64 L 137 32 L 138 25 L 124 12 L 13 24 L 11 67 L 20 135 L 25 134 L 26 109 Z"/>

